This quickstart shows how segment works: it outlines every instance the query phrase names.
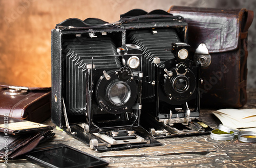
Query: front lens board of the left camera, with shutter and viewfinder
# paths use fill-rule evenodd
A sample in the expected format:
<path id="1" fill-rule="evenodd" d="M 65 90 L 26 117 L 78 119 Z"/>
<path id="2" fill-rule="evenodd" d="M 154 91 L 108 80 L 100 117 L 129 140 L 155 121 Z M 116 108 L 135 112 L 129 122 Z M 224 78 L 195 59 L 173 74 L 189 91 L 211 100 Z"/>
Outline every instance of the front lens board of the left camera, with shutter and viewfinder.
<path id="1" fill-rule="evenodd" d="M 86 74 L 89 79 L 87 105 L 91 105 L 88 106 L 90 132 L 139 126 L 141 53 L 138 46 L 124 44 L 117 48 L 118 55 L 94 57 L 94 67 Z M 106 62 L 111 62 L 113 57 L 117 57 L 121 66 L 106 68 Z M 97 68 L 98 59 L 102 59 L 102 68 Z"/>

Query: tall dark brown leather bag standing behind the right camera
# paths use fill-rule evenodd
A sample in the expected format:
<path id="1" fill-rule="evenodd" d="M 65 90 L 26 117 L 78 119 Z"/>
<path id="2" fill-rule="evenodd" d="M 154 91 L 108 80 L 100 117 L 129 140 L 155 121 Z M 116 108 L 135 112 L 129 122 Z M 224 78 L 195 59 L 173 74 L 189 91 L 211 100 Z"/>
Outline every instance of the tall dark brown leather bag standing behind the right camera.
<path id="1" fill-rule="evenodd" d="M 188 23 L 191 56 L 202 62 L 201 105 L 240 108 L 247 102 L 247 34 L 253 11 L 172 6 Z"/>

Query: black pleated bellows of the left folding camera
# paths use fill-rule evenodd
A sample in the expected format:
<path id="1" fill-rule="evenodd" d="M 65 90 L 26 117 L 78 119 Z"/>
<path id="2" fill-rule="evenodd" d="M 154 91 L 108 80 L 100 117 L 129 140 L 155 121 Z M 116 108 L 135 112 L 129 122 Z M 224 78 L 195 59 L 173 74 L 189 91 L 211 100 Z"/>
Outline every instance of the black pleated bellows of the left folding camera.
<path id="1" fill-rule="evenodd" d="M 96 68 L 118 68 L 121 67 L 117 57 L 104 57 L 117 55 L 117 47 L 111 37 L 97 37 L 93 40 L 90 37 L 79 37 L 78 41 L 66 40 L 63 43 L 66 55 L 66 88 L 67 88 L 67 109 L 74 114 L 81 114 L 86 108 L 86 65 L 91 64 L 92 57 L 102 56 L 94 59 Z"/>

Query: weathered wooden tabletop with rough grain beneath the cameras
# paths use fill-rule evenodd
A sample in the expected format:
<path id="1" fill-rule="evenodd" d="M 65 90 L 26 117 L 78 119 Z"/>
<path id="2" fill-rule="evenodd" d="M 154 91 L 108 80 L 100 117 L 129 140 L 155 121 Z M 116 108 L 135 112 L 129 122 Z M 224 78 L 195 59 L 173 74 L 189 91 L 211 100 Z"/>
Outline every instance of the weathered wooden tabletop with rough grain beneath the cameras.
<path id="1" fill-rule="evenodd" d="M 256 108 L 256 89 L 248 91 L 248 103 L 243 108 Z M 219 119 L 210 109 L 201 109 L 200 120 L 216 129 Z M 50 119 L 44 124 L 52 125 Z M 210 135 L 196 135 L 158 139 L 162 146 L 134 148 L 121 151 L 96 152 L 65 132 L 54 129 L 56 135 L 41 144 L 64 143 L 109 161 L 107 167 L 256 167 L 256 143 L 242 143 L 237 139 L 216 141 Z M 0 167 L 40 167 L 26 159 L 9 160 Z"/>

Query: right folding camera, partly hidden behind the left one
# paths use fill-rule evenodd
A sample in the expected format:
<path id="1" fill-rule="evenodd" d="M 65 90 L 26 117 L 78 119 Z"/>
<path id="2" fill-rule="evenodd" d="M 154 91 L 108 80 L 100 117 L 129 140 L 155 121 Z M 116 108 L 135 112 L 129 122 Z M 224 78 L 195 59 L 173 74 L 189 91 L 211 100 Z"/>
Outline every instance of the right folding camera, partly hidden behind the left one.
<path id="1" fill-rule="evenodd" d="M 209 133 L 197 120 L 200 63 L 188 59 L 183 17 L 135 9 L 119 21 L 126 42 L 143 51 L 142 126 L 156 138 Z"/>

